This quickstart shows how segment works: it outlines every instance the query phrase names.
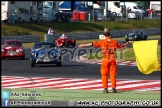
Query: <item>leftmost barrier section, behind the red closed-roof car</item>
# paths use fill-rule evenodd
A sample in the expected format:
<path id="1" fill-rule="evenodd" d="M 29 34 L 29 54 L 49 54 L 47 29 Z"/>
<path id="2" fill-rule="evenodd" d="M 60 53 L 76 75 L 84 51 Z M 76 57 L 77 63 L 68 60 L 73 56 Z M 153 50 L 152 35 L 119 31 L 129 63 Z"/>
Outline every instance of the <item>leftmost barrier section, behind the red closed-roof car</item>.
<path id="1" fill-rule="evenodd" d="M 23 43 L 30 43 L 40 41 L 40 36 L 39 35 L 2 36 L 1 43 L 4 43 L 5 40 L 9 39 L 16 39 L 21 40 Z"/>

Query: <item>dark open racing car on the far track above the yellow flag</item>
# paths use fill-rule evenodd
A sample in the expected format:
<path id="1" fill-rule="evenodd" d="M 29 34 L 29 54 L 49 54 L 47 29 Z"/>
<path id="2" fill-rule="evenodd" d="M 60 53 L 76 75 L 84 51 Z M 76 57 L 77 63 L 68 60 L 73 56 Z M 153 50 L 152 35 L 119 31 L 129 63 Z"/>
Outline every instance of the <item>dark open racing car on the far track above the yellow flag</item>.
<path id="1" fill-rule="evenodd" d="M 139 41 L 139 40 L 147 40 L 148 35 L 143 31 L 133 31 L 125 35 L 126 42 L 128 41 Z"/>

